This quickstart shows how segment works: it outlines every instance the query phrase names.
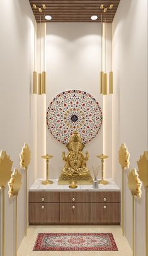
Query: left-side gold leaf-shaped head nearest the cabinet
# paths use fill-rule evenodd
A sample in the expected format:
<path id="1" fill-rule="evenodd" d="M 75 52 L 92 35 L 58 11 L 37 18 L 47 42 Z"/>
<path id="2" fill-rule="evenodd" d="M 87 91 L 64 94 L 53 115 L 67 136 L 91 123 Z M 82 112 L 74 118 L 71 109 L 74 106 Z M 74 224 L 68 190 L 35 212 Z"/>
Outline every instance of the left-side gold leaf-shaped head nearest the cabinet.
<path id="1" fill-rule="evenodd" d="M 30 155 L 31 155 L 31 151 L 30 148 L 28 146 L 28 144 L 24 144 L 24 147 L 22 148 L 21 154 L 20 154 L 20 166 L 21 168 L 26 169 L 28 167 L 28 165 L 30 164 Z"/>

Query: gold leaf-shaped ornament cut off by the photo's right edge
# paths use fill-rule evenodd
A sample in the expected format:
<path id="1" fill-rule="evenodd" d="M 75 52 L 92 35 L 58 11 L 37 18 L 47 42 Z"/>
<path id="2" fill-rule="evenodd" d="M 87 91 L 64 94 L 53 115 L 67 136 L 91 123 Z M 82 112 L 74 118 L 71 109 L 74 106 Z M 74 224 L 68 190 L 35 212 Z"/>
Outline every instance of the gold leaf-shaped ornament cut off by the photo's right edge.
<path id="1" fill-rule="evenodd" d="M 137 165 L 139 168 L 139 178 L 144 183 L 144 187 L 148 187 L 148 151 L 144 151 L 144 154 L 140 156 Z"/>

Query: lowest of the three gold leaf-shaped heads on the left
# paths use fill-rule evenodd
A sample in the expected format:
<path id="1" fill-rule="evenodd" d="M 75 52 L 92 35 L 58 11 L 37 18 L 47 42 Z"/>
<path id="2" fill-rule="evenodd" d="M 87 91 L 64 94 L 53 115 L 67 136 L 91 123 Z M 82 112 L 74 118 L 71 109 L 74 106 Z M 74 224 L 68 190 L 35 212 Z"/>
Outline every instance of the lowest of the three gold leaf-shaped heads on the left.
<path id="1" fill-rule="evenodd" d="M 21 189 L 21 173 L 18 169 L 14 169 L 14 172 L 11 175 L 11 180 L 9 181 L 9 197 L 18 195 L 19 190 Z"/>

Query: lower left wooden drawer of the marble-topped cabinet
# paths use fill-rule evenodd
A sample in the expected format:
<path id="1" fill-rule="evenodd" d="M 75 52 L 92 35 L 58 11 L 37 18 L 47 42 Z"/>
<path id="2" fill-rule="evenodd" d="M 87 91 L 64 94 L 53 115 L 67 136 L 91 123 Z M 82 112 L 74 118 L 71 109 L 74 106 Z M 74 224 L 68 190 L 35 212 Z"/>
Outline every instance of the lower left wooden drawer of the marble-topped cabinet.
<path id="1" fill-rule="evenodd" d="M 30 203 L 29 223 L 57 223 L 59 222 L 58 203 Z"/>

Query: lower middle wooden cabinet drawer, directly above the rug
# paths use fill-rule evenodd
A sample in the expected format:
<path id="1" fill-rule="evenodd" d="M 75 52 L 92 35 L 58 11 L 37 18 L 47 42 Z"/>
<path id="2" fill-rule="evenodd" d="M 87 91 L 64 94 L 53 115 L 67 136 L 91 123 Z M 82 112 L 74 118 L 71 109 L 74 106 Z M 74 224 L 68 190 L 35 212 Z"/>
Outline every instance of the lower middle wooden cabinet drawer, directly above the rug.
<path id="1" fill-rule="evenodd" d="M 89 223 L 89 203 L 60 203 L 60 223 Z"/>

